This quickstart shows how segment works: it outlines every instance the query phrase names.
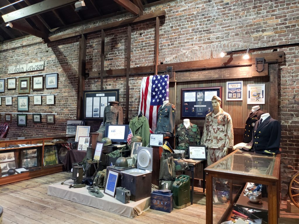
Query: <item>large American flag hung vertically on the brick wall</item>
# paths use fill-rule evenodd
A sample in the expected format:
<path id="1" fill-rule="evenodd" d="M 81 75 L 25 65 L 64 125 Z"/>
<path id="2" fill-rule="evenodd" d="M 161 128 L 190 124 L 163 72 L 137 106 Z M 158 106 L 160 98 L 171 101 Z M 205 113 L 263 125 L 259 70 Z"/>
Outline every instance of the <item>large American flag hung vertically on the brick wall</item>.
<path id="1" fill-rule="evenodd" d="M 169 99 L 169 76 L 154 75 L 143 77 L 140 89 L 139 111 L 149 121 L 149 127 L 155 132 L 157 113 L 164 100 Z"/>

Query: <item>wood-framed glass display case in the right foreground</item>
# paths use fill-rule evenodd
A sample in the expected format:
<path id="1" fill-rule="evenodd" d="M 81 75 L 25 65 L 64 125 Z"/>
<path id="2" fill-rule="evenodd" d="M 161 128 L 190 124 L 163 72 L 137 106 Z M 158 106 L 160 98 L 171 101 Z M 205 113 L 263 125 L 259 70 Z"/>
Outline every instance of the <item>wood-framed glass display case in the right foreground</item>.
<path id="1" fill-rule="evenodd" d="M 280 154 L 236 150 L 205 168 L 205 172 L 206 223 L 234 220 L 233 210 L 262 223 L 279 223 Z M 248 183 L 263 186 L 258 202 L 245 196 Z"/>

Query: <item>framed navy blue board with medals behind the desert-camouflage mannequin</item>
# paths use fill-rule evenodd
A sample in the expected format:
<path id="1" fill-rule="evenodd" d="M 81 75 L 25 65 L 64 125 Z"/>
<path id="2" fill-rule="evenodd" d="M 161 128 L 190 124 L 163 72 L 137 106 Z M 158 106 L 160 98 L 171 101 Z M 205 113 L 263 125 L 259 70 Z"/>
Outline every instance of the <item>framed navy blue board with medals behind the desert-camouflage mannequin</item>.
<path id="1" fill-rule="evenodd" d="M 181 119 L 202 119 L 213 111 L 212 97 L 222 99 L 222 86 L 181 89 Z"/>

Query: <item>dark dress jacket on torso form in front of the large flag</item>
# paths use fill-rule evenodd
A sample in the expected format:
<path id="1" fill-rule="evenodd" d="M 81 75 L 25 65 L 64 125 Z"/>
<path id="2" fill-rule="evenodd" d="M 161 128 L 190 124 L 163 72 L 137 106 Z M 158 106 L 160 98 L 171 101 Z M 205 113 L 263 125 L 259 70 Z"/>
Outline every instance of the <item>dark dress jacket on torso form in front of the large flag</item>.
<path id="1" fill-rule="evenodd" d="M 157 114 L 157 127 L 155 129 L 155 133 L 164 134 L 166 132 L 172 133 L 175 126 L 176 120 L 176 106 L 167 103 L 164 106 L 161 105 L 158 109 Z"/>

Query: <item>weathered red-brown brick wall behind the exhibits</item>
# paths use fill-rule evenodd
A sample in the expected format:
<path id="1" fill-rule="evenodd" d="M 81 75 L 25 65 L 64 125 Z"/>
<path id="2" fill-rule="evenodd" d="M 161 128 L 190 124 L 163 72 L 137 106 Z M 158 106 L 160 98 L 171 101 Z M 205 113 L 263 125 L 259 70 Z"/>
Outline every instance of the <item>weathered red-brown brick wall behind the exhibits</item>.
<path id="1" fill-rule="evenodd" d="M 298 42 L 299 7 L 296 0 L 177 0 L 146 8 L 145 13 L 158 10 L 166 11 L 166 18 L 161 21 L 160 27 L 159 62 L 163 63 L 208 59 L 211 55 L 216 58 L 219 57 L 222 50 Z M 129 17 L 130 14 L 127 13 L 59 32 L 66 33 Z M 154 23 L 154 21 L 149 21 L 132 26 L 131 64 L 134 67 L 152 65 L 153 63 Z M 126 66 L 126 33 L 124 27 L 106 31 L 105 69 L 124 68 Z M 100 38 L 100 32 L 87 36 L 87 72 L 100 70 Z M 58 113 L 58 121 L 52 126 L 42 123 L 34 127 L 31 124 L 27 128 L 16 127 L 15 123 L 12 122 L 13 135 L 34 134 L 33 132 L 49 133 L 51 130 L 63 133 L 65 120 L 73 119 L 76 115 L 78 39 L 59 41 L 48 46 L 39 41 L 37 38 L 27 37 L 0 45 L 0 74 L 7 76 L 8 64 L 16 65 L 45 60 L 45 72 L 58 71 L 60 79 L 65 80 L 65 82 L 60 80 L 58 90 L 51 90 L 59 93 L 57 99 L 60 97 L 61 100 L 59 102 L 58 99 L 57 107 L 53 108 Z M 299 47 L 278 48 L 278 50 L 284 51 L 286 54 L 285 63 L 280 64 L 277 96 L 279 100 L 278 115 L 282 125 L 282 196 L 283 199 L 286 199 L 289 179 L 299 170 L 299 152 L 297 149 L 299 146 Z M 129 118 L 138 114 L 140 77 L 142 76 L 130 77 Z M 125 113 L 127 109 L 125 108 L 125 78 L 105 79 L 103 86 L 104 89 L 120 89 L 120 105 L 124 108 Z M 98 79 L 86 80 L 86 90 L 99 89 L 99 87 L 100 81 Z M 69 99 L 65 100 L 66 97 Z M 63 105 L 67 106 L 60 109 L 59 106 L 63 107 Z M 30 111 L 31 109 L 33 107 L 30 105 Z M 41 111 L 48 110 L 45 105 L 36 108 L 36 110 L 39 109 Z M 6 108 L 3 107 L 3 100 L 2 111 L 6 111 Z M 3 121 L 2 116 L 0 119 Z M 30 125 L 29 122 L 28 125 Z M 96 130 L 99 124 L 93 122 L 91 125 L 92 129 Z"/>

